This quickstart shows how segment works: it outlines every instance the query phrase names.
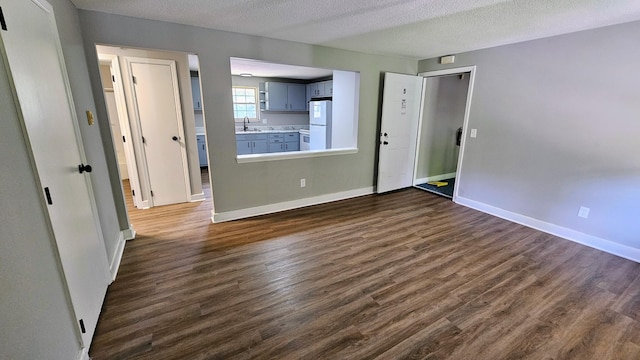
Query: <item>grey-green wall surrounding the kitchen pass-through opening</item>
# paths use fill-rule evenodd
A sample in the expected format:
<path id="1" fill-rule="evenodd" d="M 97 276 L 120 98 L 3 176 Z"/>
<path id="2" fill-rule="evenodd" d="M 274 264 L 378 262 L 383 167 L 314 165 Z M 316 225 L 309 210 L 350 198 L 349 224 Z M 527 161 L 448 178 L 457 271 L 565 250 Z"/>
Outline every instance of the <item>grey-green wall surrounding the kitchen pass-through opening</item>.
<path id="1" fill-rule="evenodd" d="M 92 79 L 99 73 L 94 44 L 152 48 L 197 54 L 216 212 L 227 212 L 307 197 L 369 189 L 374 185 L 380 74 L 416 74 L 417 61 L 367 55 L 224 31 L 79 11 Z M 358 152 L 238 164 L 232 120 L 229 57 L 360 72 Z M 94 81 L 94 82 L 95 82 Z M 95 86 L 95 85 L 94 85 Z M 96 99 L 99 115 L 106 113 Z M 307 186 L 300 188 L 300 179 Z M 256 179 L 260 181 L 256 182 Z"/>

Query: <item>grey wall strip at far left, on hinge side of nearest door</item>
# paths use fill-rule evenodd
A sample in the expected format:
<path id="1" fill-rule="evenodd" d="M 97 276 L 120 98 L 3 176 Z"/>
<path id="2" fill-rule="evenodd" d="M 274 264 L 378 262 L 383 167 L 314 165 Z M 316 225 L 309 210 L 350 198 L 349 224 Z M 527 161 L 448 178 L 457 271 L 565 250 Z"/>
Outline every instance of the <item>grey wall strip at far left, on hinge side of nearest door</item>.
<path id="1" fill-rule="evenodd" d="M 58 23 L 75 11 L 53 3 Z M 0 359 L 75 359 L 75 318 L 9 84 L 0 60 Z"/>

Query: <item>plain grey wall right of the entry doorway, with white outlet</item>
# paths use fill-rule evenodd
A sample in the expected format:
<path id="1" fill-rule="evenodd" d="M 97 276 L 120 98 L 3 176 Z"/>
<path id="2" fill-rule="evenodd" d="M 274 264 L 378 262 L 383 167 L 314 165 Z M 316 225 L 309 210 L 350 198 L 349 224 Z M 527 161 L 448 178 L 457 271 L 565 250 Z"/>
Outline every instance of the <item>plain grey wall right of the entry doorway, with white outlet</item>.
<path id="1" fill-rule="evenodd" d="M 640 22 L 420 61 L 476 65 L 463 198 L 640 248 Z M 589 218 L 578 217 L 581 206 Z"/>

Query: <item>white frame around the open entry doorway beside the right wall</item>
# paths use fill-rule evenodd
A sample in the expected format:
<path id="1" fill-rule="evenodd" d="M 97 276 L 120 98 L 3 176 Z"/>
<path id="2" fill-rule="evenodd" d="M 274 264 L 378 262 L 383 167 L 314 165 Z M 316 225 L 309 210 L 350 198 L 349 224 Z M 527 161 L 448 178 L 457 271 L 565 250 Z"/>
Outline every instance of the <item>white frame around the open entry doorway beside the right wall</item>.
<path id="1" fill-rule="evenodd" d="M 419 137 L 420 134 L 422 134 L 422 123 L 424 121 L 425 106 L 430 106 L 430 104 L 424 103 L 424 89 L 426 86 L 427 78 L 439 77 L 444 75 L 459 75 L 459 74 L 465 74 L 465 73 L 469 73 L 469 86 L 467 88 L 467 101 L 465 103 L 465 109 L 464 109 L 464 121 L 462 123 L 462 141 L 460 142 L 460 151 L 458 152 L 458 164 L 456 166 L 456 182 L 453 187 L 452 200 L 453 202 L 456 202 L 456 203 L 458 202 L 457 200 L 459 196 L 458 185 L 460 184 L 460 178 L 462 176 L 462 163 L 464 160 L 465 144 L 466 144 L 467 133 L 468 133 L 469 115 L 471 113 L 471 100 L 473 97 L 473 85 L 475 83 L 475 77 L 476 77 L 476 66 L 473 65 L 473 66 L 464 66 L 464 67 L 450 68 L 450 69 L 443 69 L 443 70 L 425 71 L 418 74 L 418 76 L 423 77 L 422 105 L 420 106 L 420 120 L 418 121 L 418 134 L 417 134 L 417 136 Z M 414 158 L 414 167 L 413 167 L 413 174 L 414 174 L 413 186 L 416 186 L 415 174 L 418 171 L 419 158 L 420 158 L 420 146 L 416 146 L 416 154 Z"/>

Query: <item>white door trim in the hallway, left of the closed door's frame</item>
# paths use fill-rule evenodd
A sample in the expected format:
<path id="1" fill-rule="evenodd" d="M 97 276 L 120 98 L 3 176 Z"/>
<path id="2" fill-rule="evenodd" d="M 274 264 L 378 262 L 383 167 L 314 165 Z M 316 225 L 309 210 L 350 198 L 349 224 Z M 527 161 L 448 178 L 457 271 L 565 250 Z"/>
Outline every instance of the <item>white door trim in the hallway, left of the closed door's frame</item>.
<path id="1" fill-rule="evenodd" d="M 122 71 L 120 70 L 120 58 L 118 55 L 112 54 L 102 54 L 98 53 L 98 61 L 99 62 L 109 62 L 109 66 L 111 68 L 111 75 L 115 78 L 115 82 L 113 82 L 113 93 L 116 100 L 116 108 L 118 109 L 118 122 L 120 123 L 120 131 L 122 135 L 125 136 L 129 141 L 125 141 L 124 145 L 124 155 L 127 159 L 127 170 L 129 171 L 129 185 L 131 186 L 131 190 L 140 194 L 140 178 L 138 176 L 138 164 L 136 162 L 136 153 L 133 148 L 134 139 L 131 135 L 131 123 L 129 121 L 129 113 L 127 111 L 127 101 L 124 92 L 124 83 L 122 78 Z M 104 94 L 104 85 L 102 84 L 103 96 Z M 105 99 L 106 104 L 106 99 Z M 111 122 L 111 119 L 109 119 Z M 113 138 L 113 133 L 111 134 L 111 139 L 116 141 Z M 114 146 L 115 149 L 115 146 Z M 117 158 L 117 157 L 116 157 Z M 118 164 L 119 165 L 119 164 Z M 120 177 L 118 166 L 118 177 Z M 133 198 L 133 206 L 136 208 L 142 209 L 145 206 L 148 207 L 148 204 L 145 204 L 142 201 L 141 196 L 132 196 Z M 125 208 L 125 211 L 126 208 Z"/>

